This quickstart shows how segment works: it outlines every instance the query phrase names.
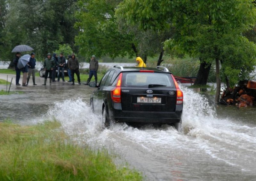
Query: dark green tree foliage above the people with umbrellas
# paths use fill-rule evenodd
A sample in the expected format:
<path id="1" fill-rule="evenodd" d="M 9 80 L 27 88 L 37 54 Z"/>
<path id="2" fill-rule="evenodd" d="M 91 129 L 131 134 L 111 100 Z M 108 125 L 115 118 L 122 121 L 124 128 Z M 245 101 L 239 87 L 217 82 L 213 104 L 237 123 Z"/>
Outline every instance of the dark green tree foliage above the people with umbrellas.
<path id="1" fill-rule="evenodd" d="M 57 49 L 59 44 L 68 43 L 73 49 L 75 48 L 74 37 L 77 34 L 77 30 L 73 28 L 75 1 L 7 0 L 6 4 L 8 8 L 4 16 L 3 30 L 5 36 L 3 41 L 0 41 L 3 44 L 2 48 L 0 47 L 1 59 L 12 60 L 11 51 L 20 44 L 33 47 L 38 59 Z"/>

